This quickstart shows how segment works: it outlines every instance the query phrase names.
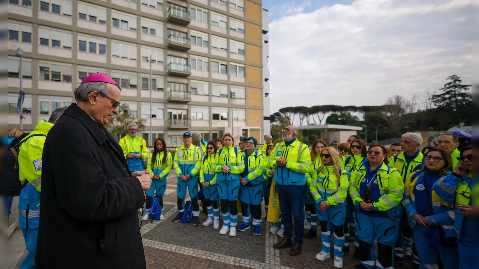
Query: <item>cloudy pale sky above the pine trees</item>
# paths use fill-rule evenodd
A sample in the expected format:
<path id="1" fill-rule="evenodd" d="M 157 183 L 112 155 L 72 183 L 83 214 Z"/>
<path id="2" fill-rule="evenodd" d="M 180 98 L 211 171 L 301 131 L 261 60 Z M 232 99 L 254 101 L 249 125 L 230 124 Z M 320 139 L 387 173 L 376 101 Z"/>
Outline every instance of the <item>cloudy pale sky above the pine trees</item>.
<path id="1" fill-rule="evenodd" d="M 263 0 L 271 113 L 286 106 L 382 105 L 471 83 L 469 0 Z M 287 98 L 285 98 L 287 97 Z"/>

